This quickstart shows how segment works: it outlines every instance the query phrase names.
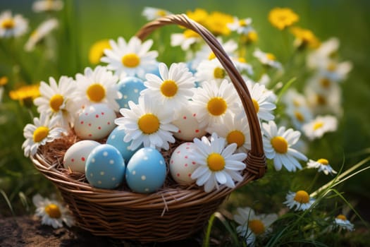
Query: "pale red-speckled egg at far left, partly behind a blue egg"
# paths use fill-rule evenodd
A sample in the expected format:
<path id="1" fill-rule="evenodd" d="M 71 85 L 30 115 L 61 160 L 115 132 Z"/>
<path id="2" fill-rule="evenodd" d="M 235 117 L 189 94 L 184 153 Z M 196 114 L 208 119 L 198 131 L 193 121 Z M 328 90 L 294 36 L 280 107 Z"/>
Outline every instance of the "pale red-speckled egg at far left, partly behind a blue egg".
<path id="1" fill-rule="evenodd" d="M 64 168 L 85 173 L 86 159 L 94 147 L 99 145 L 100 143 L 94 140 L 80 140 L 71 145 L 63 157 Z"/>

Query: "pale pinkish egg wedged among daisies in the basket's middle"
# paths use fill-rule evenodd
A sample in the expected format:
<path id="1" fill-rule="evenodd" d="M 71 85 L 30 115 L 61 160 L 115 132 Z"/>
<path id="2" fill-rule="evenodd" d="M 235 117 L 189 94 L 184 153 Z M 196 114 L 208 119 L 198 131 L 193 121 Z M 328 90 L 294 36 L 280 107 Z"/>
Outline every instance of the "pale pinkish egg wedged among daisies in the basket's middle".
<path id="1" fill-rule="evenodd" d="M 189 107 L 190 108 L 190 107 Z M 183 107 L 178 112 L 178 118 L 173 121 L 173 125 L 178 127 L 178 132 L 173 133 L 175 138 L 180 140 L 193 140 L 206 135 L 206 126 L 199 128 L 199 122 L 196 117 L 197 114 L 190 112 L 190 109 Z"/>

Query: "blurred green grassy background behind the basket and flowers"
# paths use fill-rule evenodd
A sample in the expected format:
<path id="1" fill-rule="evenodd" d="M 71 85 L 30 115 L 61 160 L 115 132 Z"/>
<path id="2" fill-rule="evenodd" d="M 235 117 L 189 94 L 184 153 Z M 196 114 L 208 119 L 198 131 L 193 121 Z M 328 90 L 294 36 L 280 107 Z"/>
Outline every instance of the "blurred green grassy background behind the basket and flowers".
<path id="1" fill-rule="evenodd" d="M 283 37 L 280 31 L 273 28 L 267 19 L 272 8 L 292 8 L 300 16 L 298 23 L 300 27 L 312 30 L 320 40 L 338 37 L 341 58 L 345 61 L 352 61 L 353 64 L 350 75 L 343 83 L 344 114 L 340 119 L 339 130 L 329 135 L 326 143 L 314 143 L 310 147 L 310 152 L 321 152 L 321 155 L 328 155 L 331 158 L 331 164 L 335 164 L 335 167 L 344 164 L 345 169 L 369 154 L 369 1 L 67 0 L 65 9 L 56 13 L 34 13 L 31 9 L 32 2 L 30 0 L 0 1 L 0 12 L 10 9 L 13 13 L 22 14 L 29 20 L 30 30 L 35 29 L 50 15 L 60 18 L 61 28 L 56 30 L 58 38 L 55 40 L 58 48 L 54 51 L 58 59 L 47 61 L 40 50 L 36 50 L 32 56 L 16 50 L 17 58 L 9 56 L 6 49 L 0 50 L 0 77 L 17 69 L 12 66 L 13 60 L 20 59 L 20 61 L 26 61 L 22 66 L 30 80 L 25 82 L 18 81 L 17 78 L 9 78 L 9 82 L 4 85 L 4 95 L 0 103 L 0 192 L 2 194 L 0 196 L 0 217 L 11 215 L 12 211 L 15 215 L 30 213 L 32 195 L 47 194 L 54 188 L 49 186 L 51 183 L 36 171 L 30 159 L 23 156 L 23 150 L 21 150 L 24 141 L 23 127 L 32 121 L 32 117 L 30 109 L 9 99 L 8 92 L 19 85 L 38 83 L 40 80 L 47 81 L 49 76 L 58 78 L 60 75 L 75 76 L 75 73 L 82 73 L 85 67 L 92 66 L 88 60 L 92 44 L 101 39 L 116 40 L 120 36 L 129 39 L 135 35 L 135 32 L 147 23 L 142 16 L 142 11 L 146 6 L 164 8 L 172 13 L 185 13 L 194 11 L 195 8 L 204 8 L 208 12 L 221 11 L 239 18 L 250 17 L 259 34 L 258 47 L 273 52 L 280 61 L 286 61 L 288 57 L 285 49 L 282 48 Z M 161 30 L 164 42 L 169 42 L 170 33 L 171 28 Z M 2 43 L 1 46 L 4 48 L 5 44 Z M 180 50 L 171 48 L 168 51 L 167 49 L 160 54 L 159 59 L 168 62 L 180 61 L 181 56 L 176 56 L 176 52 L 173 51 Z M 369 171 L 365 171 L 343 183 L 339 189 L 345 192 L 345 198 L 354 203 L 366 219 L 370 219 L 367 203 L 370 200 L 369 175 Z M 323 177 L 320 179 L 327 181 Z M 276 186 L 280 183 L 280 181 L 273 181 L 273 178 L 269 181 Z M 252 192 L 243 191 L 243 193 Z M 286 191 L 281 191 L 281 193 L 285 194 Z M 240 196 L 238 198 L 244 200 Z M 9 204 L 12 205 L 11 208 Z"/>

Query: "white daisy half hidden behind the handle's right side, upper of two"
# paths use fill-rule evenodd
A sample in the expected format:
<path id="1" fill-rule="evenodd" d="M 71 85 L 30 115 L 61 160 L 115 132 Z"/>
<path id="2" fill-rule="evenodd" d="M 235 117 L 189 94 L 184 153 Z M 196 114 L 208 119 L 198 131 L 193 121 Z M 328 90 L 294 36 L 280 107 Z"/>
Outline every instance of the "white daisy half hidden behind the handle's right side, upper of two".
<path id="1" fill-rule="evenodd" d="M 247 84 L 247 88 L 252 97 L 254 110 L 259 119 L 264 121 L 273 120 L 275 116 L 273 116 L 271 112 L 273 109 L 276 109 L 276 105 L 269 102 L 270 94 L 272 92 L 267 90 L 265 85 L 252 83 L 252 80 L 247 80 L 245 83 Z"/>

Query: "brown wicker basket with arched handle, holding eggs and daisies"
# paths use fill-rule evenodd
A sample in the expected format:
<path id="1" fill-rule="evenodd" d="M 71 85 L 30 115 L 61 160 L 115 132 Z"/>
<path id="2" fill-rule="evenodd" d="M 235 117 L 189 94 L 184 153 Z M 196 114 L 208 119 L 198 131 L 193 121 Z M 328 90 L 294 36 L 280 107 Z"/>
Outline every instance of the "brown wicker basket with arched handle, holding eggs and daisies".
<path id="1" fill-rule="evenodd" d="M 55 183 L 73 212 L 77 226 L 94 235 L 141 242 L 185 239 L 202 230 L 209 217 L 233 190 L 261 178 L 266 171 L 259 121 L 247 86 L 216 38 L 184 14 L 147 23 L 136 36 L 144 39 L 156 28 L 168 24 L 182 25 L 199 33 L 221 61 L 238 91 L 249 121 L 252 143 L 245 160 L 247 168 L 243 171 L 243 180 L 236 183 L 235 188 L 221 186 L 211 193 L 197 186 L 164 186 L 149 195 L 129 190 L 104 190 L 93 188 L 89 183 L 61 171 L 63 152 L 66 152 L 68 145 L 60 144 L 59 155 L 50 155 L 47 146 L 42 146 L 31 157 L 32 162 L 47 179 Z"/>

